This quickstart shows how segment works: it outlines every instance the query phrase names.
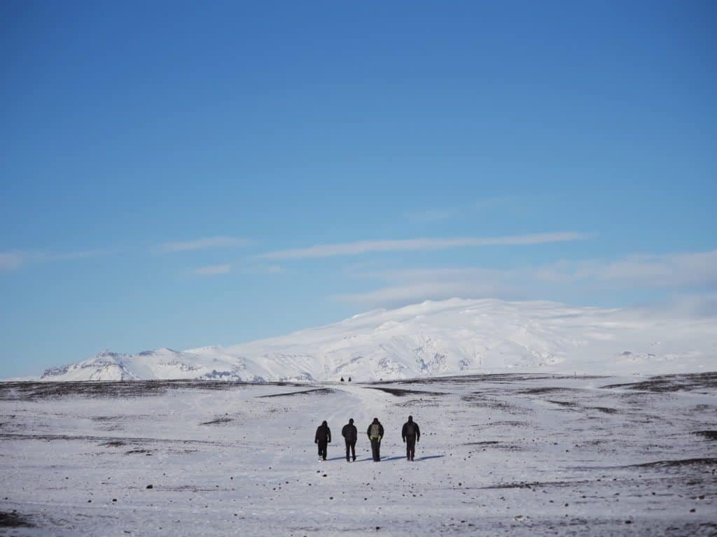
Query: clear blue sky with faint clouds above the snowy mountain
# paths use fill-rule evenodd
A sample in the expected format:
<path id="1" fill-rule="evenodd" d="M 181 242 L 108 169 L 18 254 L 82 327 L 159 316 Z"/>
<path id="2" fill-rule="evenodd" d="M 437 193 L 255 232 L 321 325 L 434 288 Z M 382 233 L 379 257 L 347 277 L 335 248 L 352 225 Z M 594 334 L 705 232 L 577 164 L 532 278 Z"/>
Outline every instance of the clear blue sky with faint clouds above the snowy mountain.
<path id="1" fill-rule="evenodd" d="M 121 4 L 0 6 L 0 376 L 715 296 L 711 1 Z"/>

